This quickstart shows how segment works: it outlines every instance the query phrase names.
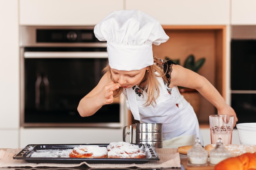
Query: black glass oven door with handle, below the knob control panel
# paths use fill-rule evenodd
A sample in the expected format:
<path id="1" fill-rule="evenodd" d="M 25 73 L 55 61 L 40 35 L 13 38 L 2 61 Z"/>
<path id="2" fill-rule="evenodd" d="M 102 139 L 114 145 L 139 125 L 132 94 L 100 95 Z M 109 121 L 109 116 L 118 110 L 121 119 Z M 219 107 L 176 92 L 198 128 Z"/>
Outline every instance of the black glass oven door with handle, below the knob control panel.
<path id="1" fill-rule="evenodd" d="M 77 111 L 80 99 L 97 85 L 107 52 L 65 48 L 21 48 L 21 126 L 123 127 L 118 99 L 90 117 Z"/>

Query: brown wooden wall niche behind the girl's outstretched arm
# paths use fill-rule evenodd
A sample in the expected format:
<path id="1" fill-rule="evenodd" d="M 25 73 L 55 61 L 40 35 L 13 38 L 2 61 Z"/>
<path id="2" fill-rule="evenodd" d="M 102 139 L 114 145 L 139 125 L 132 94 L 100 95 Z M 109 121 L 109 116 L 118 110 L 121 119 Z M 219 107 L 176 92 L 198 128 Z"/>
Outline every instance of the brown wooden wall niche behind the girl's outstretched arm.
<path id="1" fill-rule="evenodd" d="M 198 71 L 206 77 L 225 98 L 225 61 L 226 61 L 226 26 L 163 26 L 170 39 L 153 45 L 153 54 L 159 58 L 165 56 L 180 59 L 183 65 L 185 58 L 193 54 L 195 60 L 206 58 L 205 64 Z M 200 97 L 201 107 L 199 121 L 209 121 L 209 115 L 216 113 L 216 108 L 204 97 Z"/>

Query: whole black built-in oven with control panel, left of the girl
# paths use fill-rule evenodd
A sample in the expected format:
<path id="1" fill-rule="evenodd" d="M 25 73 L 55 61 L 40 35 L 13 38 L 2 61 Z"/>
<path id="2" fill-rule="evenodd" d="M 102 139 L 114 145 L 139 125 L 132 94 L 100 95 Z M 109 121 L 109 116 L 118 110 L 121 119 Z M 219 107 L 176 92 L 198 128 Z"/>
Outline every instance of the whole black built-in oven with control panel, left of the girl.
<path id="1" fill-rule="evenodd" d="M 77 111 L 108 64 L 106 42 L 92 26 L 20 27 L 20 125 L 110 127 L 125 125 L 124 98 L 90 117 Z"/>

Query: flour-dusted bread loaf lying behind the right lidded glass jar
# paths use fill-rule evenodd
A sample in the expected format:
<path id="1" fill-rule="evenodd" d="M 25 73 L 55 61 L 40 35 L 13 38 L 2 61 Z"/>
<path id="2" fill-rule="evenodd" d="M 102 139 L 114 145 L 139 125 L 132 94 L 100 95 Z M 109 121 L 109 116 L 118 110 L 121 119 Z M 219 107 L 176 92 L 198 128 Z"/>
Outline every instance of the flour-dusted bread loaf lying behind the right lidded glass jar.
<path id="1" fill-rule="evenodd" d="M 256 152 L 256 145 L 237 145 L 237 144 L 225 144 L 224 145 L 227 150 L 229 150 L 231 157 L 236 157 L 242 155 L 246 152 L 254 153 Z M 204 147 L 205 150 L 212 150 L 215 147 L 215 144 L 208 144 Z"/>

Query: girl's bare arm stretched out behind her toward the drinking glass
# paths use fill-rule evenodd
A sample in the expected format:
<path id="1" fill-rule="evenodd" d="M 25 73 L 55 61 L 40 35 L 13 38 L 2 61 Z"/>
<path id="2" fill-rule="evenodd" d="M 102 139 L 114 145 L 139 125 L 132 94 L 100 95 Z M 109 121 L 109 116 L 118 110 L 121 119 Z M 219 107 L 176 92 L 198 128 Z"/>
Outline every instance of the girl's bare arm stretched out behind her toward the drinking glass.
<path id="1" fill-rule="evenodd" d="M 225 99 L 205 77 L 180 65 L 173 64 L 172 68 L 170 87 L 183 86 L 196 89 L 217 108 L 218 115 L 234 115 L 234 126 L 236 125 L 238 118 L 234 109 L 225 102 Z"/>

